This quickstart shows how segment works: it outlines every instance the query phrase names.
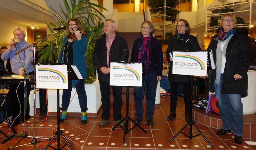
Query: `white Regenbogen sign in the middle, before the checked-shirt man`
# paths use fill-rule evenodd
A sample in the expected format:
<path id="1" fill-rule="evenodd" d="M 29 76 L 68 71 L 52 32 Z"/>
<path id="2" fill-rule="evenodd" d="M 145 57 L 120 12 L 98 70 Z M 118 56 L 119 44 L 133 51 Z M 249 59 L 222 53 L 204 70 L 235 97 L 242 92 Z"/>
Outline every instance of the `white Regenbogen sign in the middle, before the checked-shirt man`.
<path id="1" fill-rule="evenodd" d="M 142 86 L 142 63 L 110 63 L 110 85 Z"/>

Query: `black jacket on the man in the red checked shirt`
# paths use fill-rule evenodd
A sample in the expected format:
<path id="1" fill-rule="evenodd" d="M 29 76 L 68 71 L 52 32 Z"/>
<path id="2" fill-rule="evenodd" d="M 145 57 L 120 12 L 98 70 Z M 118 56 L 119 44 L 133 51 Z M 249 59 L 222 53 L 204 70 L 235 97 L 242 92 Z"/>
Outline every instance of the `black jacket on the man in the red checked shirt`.
<path id="1" fill-rule="evenodd" d="M 128 61 L 129 50 L 126 39 L 121 37 L 118 32 L 116 32 L 116 37 L 109 50 L 109 62 L 120 62 Z M 107 46 L 106 46 L 106 34 L 102 34 L 100 39 L 97 40 L 94 52 L 93 61 L 98 70 L 99 81 L 109 82 L 110 74 L 104 74 L 100 71 L 101 67 L 107 67 Z M 110 65 L 109 65 L 110 67 Z"/>

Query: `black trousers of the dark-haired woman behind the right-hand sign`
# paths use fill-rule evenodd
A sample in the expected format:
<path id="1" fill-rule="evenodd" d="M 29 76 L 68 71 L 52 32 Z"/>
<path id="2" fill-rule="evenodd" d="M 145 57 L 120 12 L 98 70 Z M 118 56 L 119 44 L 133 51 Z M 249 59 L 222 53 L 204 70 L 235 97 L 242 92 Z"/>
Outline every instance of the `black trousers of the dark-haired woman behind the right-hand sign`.
<path id="1" fill-rule="evenodd" d="M 179 82 L 171 82 L 171 106 L 170 112 L 176 112 L 176 106 L 178 101 L 178 90 L 179 90 Z M 185 113 L 189 114 L 190 112 L 190 82 L 183 82 L 183 94 L 184 94 L 184 103 L 185 103 Z"/>

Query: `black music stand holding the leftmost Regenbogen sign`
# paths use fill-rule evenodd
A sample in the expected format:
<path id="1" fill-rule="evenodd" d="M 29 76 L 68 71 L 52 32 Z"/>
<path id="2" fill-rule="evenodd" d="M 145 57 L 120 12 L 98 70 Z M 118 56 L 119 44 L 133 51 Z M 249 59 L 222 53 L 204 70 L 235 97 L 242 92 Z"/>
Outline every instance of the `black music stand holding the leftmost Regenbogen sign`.
<path id="1" fill-rule="evenodd" d="M 68 80 L 77 80 L 78 77 L 76 73 L 74 72 L 73 68 L 69 64 L 62 64 L 62 63 L 57 63 L 57 64 L 44 64 L 44 65 L 67 65 L 68 68 Z M 57 149 L 53 146 L 51 146 L 52 140 L 55 138 L 57 135 Z M 63 137 L 63 139 L 66 141 L 66 144 L 60 148 L 60 135 Z M 60 89 L 57 89 L 57 131 L 54 133 L 52 136 L 52 139 L 50 142 L 47 144 L 44 150 L 46 150 L 49 146 L 55 150 L 61 150 L 64 148 L 66 145 L 68 145 L 72 150 L 74 148 L 70 145 L 66 137 L 63 135 L 63 131 L 60 130 Z"/>

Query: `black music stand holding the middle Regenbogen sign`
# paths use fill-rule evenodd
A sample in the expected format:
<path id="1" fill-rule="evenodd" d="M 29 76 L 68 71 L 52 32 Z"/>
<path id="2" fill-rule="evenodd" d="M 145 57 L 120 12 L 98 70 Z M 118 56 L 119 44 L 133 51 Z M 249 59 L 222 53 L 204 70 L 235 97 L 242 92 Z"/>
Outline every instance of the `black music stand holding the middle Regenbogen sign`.
<path id="1" fill-rule="evenodd" d="M 124 62 L 126 63 L 126 62 Z M 129 62 L 129 63 L 138 63 L 138 62 Z M 145 71 L 144 71 L 144 63 L 142 63 L 142 76 L 145 76 Z M 123 128 L 120 124 L 125 120 L 125 128 Z M 128 129 L 129 125 L 129 120 L 131 120 L 135 125 L 131 128 Z M 126 116 L 124 117 L 123 120 L 121 120 L 115 127 L 112 128 L 112 130 L 115 130 L 117 126 L 120 126 L 124 130 L 124 139 L 123 139 L 123 145 L 125 141 L 125 134 L 129 134 L 128 132 L 131 131 L 133 128 L 138 126 L 142 131 L 147 133 L 146 130 L 144 130 L 139 124 L 137 124 L 135 121 L 132 120 L 131 117 L 129 117 L 129 86 L 126 86 Z"/>

